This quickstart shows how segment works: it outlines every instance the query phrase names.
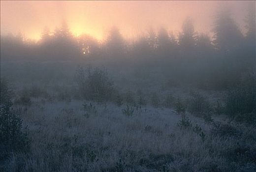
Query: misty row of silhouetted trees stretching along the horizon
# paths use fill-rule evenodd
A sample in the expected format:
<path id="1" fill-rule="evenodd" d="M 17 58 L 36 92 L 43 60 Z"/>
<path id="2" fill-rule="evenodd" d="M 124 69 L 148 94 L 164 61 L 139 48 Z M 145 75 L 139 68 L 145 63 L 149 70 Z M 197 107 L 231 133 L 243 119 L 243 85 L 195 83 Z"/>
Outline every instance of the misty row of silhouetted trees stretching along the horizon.
<path id="1" fill-rule="evenodd" d="M 116 27 L 104 42 L 99 42 L 90 35 L 76 37 L 63 24 L 53 32 L 45 28 L 37 42 L 24 39 L 21 34 L 1 35 L 0 59 L 1 62 L 101 60 L 119 67 L 129 65 L 142 73 L 156 70 L 169 78 L 171 86 L 186 83 L 204 89 L 228 89 L 255 75 L 255 7 L 248 10 L 245 21 L 247 32 L 242 34 L 232 15 L 222 11 L 216 15 L 213 38 L 196 32 L 192 20 L 187 19 L 177 36 L 164 28 L 151 29 L 133 43 L 126 41 Z"/>

